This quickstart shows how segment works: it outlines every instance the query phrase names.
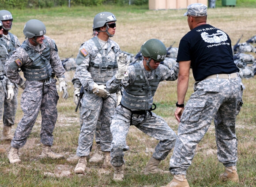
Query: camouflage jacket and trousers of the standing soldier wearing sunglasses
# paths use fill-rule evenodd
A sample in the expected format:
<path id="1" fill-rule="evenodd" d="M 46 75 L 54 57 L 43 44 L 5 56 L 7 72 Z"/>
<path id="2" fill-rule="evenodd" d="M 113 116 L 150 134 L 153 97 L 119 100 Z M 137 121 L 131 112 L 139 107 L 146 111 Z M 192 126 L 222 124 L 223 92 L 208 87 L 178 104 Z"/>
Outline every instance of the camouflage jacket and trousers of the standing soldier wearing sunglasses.
<path id="1" fill-rule="evenodd" d="M 115 48 L 115 50 L 113 50 L 113 48 Z M 83 51 L 85 55 L 81 52 L 82 49 L 85 50 Z M 107 45 L 102 49 L 106 61 L 109 62 L 115 61 L 116 56 L 120 54 L 119 45 L 111 39 L 108 40 Z M 92 62 L 94 64 L 102 64 L 102 55 L 98 51 L 94 41 L 90 39 L 83 43 L 79 49 L 76 58 L 76 72 L 72 80 L 74 87 L 80 87 L 82 84 L 85 92 L 79 106 L 80 121 L 83 121 L 79 134 L 79 145 L 76 151 L 76 154 L 79 157 L 90 154 L 90 147 L 93 143 L 95 129 L 97 129 L 95 139 L 96 142 L 100 142 L 102 151 L 110 151 L 112 142 L 110 116 L 113 115 L 117 96 L 116 94 L 111 94 L 107 99 L 103 99 L 92 93 L 92 89 L 94 82 L 97 84 L 104 84 L 103 82 L 106 82 L 113 77 L 117 72 L 117 68 L 107 68 L 106 70 L 101 71 L 99 68 L 92 67 Z"/>

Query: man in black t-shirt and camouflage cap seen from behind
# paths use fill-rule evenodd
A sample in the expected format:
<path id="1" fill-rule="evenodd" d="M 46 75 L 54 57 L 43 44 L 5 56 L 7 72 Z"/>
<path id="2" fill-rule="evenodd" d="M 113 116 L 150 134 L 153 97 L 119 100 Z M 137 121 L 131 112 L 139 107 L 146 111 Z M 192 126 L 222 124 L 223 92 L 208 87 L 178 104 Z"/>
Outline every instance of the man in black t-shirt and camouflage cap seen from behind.
<path id="1" fill-rule="evenodd" d="M 220 179 L 238 182 L 235 121 L 245 87 L 233 60 L 231 40 L 222 30 L 206 23 L 206 5 L 188 5 L 186 15 L 191 31 L 181 39 L 177 55 L 180 72 L 174 114 L 180 124 L 169 166 L 174 177 L 164 187 L 189 187 L 187 169 L 213 118 L 218 160 L 226 167 Z M 190 66 L 196 80 L 195 92 L 184 107 Z"/>

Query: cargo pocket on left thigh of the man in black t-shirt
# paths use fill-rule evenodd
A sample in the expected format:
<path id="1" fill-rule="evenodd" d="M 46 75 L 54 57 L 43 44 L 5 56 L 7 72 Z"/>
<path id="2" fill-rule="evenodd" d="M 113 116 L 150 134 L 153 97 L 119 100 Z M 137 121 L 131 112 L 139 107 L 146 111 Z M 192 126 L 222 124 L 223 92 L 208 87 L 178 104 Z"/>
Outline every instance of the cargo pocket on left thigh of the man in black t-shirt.
<path id="1" fill-rule="evenodd" d="M 198 121 L 206 102 L 207 100 L 189 99 L 181 117 L 181 121 Z"/>

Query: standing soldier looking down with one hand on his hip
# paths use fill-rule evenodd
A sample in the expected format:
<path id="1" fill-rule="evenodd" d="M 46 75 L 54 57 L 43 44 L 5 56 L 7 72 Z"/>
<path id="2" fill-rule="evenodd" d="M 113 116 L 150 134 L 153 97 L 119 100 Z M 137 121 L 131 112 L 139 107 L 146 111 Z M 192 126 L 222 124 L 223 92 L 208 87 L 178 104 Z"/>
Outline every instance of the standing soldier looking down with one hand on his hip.
<path id="1" fill-rule="evenodd" d="M 58 55 L 55 42 L 44 36 L 46 28 L 43 22 L 31 19 L 26 22 L 23 33 L 26 40 L 17 48 L 6 65 L 6 73 L 10 81 L 18 84 L 24 92 L 21 98 L 23 118 L 19 121 L 15 135 L 11 141 L 9 152 L 10 163 L 19 163 L 19 148 L 23 147 L 34 123 L 41 111 L 41 143 L 43 150 L 41 158 L 62 158 L 63 155 L 55 154 L 51 150 L 53 145 L 53 129 L 57 120 L 56 90 L 57 77 L 60 82 L 60 91 L 63 98 L 68 98 L 67 83 L 64 76 L 65 70 Z M 19 68 L 24 73 L 24 81 L 17 71 Z"/>

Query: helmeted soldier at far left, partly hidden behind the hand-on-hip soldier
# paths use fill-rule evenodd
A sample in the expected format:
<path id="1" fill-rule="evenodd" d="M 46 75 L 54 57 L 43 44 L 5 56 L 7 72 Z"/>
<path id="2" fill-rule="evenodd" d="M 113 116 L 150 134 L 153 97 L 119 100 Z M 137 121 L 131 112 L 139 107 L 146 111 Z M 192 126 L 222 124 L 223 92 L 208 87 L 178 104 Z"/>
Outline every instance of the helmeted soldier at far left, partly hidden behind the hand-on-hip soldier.
<path id="1" fill-rule="evenodd" d="M 9 32 L 11 30 L 12 26 L 12 15 L 11 12 L 6 11 L 6 10 L 1 10 L 0 11 L 0 20 L 3 23 L 3 37 L 0 38 L 0 43 L 3 44 L 7 50 L 8 50 L 8 55 L 11 57 L 12 51 L 14 51 L 16 48 L 20 46 L 18 38 Z M 1 137 L 1 140 L 11 140 L 11 127 L 14 125 L 15 121 L 15 115 L 17 111 L 17 106 L 18 106 L 18 85 L 13 84 L 12 89 L 14 91 L 14 96 L 11 101 L 4 99 L 4 116 L 3 116 L 3 136 Z"/>

